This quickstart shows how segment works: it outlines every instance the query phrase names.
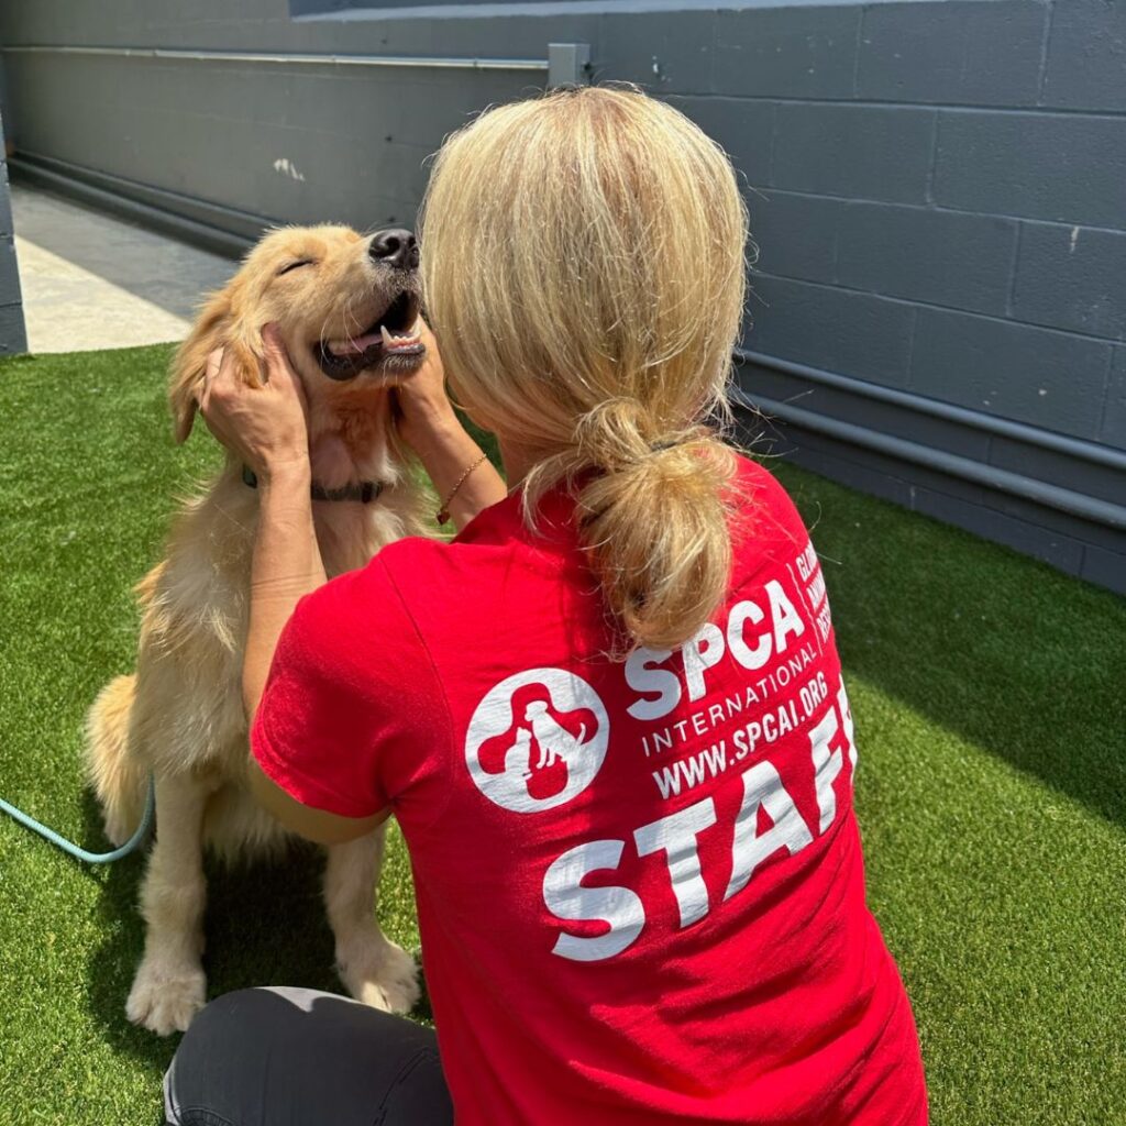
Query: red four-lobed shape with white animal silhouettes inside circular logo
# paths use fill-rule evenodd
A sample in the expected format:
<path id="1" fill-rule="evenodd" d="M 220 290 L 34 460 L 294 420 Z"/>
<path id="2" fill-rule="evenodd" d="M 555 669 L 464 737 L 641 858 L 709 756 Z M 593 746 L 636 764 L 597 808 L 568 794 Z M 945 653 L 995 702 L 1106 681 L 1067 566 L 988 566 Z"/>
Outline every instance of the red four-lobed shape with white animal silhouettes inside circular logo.
<path id="1" fill-rule="evenodd" d="M 521 778 L 529 796 L 544 801 L 566 788 L 571 766 L 597 731 L 589 708 L 557 712 L 543 685 L 526 685 L 512 695 L 508 731 L 482 744 L 481 766 Z"/>

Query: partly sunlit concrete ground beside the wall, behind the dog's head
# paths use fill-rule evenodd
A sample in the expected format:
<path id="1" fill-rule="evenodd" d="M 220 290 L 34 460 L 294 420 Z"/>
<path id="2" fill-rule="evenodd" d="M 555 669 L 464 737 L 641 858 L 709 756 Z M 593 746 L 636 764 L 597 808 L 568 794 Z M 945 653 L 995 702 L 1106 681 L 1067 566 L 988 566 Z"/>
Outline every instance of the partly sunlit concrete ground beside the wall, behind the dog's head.
<path id="1" fill-rule="evenodd" d="M 236 263 L 36 188 L 12 185 L 32 352 L 182 340 Z"/>

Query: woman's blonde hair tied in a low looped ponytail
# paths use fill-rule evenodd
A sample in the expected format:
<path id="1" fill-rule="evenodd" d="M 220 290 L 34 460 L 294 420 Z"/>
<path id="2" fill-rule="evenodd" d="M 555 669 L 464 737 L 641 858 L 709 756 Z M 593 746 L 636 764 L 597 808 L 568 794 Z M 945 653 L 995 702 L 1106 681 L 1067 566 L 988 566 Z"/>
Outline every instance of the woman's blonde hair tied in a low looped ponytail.
<path id="1" fill-rule="evenodd" d="M 723 151 L 632 89 L 501 106 L 450 136 L 420 216 L 450 390 L 565 481 L 633 642 L 688 641 L 730 581 L 726 417 L 747 209 Z M 601 472 L 584 475 L 584 470 Z"/>

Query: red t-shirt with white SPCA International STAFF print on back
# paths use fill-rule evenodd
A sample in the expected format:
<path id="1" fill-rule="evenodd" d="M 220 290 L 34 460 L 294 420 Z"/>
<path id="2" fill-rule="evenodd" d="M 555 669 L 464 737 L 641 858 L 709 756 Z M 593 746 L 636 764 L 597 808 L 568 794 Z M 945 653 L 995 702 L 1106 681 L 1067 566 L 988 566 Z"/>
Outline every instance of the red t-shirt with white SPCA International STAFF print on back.
<path id="1" fill-rule="evenodd" d="M 920 1126 L 914 1021 L 865 905 L 856 747 L 816 555 L 741 461 L 730 597 L 614 637 L 548 494 L 403 539 L 298 606 L 252 745 L 298 801 L 391 805 L 459 1126 Z"/>

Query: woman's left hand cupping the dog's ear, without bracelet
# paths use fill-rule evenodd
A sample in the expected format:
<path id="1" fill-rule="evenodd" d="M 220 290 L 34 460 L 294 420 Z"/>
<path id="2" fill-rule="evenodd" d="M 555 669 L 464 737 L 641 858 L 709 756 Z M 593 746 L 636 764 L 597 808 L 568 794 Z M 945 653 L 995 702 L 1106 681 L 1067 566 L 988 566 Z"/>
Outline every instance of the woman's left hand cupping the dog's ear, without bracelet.
<path id="1" fill-rule="evenodd" d="M 216 349 L 198 392 L 207 428 L 260 477 L 291 470 L 309 472 L 307 404 L 277 325 L 262 329 L 265 378 L 249 386 L 230 351 Z"/>

